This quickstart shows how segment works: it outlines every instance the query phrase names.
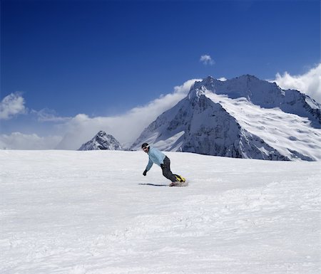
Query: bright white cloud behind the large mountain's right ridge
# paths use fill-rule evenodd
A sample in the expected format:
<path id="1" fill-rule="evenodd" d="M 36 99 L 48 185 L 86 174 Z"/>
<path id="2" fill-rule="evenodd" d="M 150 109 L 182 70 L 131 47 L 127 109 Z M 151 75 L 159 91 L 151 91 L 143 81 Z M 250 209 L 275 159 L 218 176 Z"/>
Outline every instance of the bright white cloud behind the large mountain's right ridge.
<path id="1" fill-rule="evenodd" d="M 287 72 L 283 75 L 277 73 L 275 80 L 270 80 L 270 82 L 277 83 L 280 88 L 285 90 L 300 90 L 321 103 L 321 63 L 302 75 L 290 75 Z"/>

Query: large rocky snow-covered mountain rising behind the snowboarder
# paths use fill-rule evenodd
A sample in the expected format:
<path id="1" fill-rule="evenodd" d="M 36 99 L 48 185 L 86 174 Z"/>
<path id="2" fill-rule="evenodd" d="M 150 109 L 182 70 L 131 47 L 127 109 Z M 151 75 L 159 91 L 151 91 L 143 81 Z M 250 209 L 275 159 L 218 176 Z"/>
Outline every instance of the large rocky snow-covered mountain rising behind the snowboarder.
<path id="1" fill-rule="evenodd" d="M 216 156 L 321 160 L 320 104 L 297 90 L 243 75 L 195 82 L 133 143 Z"/>

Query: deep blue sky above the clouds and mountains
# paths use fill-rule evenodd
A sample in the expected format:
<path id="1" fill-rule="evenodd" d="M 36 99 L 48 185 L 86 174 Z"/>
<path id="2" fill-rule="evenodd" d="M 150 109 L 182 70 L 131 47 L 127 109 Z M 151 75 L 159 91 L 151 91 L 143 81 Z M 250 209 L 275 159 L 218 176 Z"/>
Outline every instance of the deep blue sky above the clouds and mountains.
<path id="1" fill-rule="evenodd" d="M 19 91 L 60 116 L 121 113 L 191 78 L 267 79 L 319 62 L 317 0 L 1 0 L 1 100 Z"/>

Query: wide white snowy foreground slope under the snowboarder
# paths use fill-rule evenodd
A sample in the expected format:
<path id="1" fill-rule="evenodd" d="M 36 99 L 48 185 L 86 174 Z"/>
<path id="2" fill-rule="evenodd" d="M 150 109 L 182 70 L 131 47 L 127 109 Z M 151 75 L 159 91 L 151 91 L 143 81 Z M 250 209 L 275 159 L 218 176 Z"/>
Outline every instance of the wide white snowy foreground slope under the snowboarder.
<path id="1" fill-rule="evenodd" d="M 0 273 L 320 273 L 320 162 L 1 150 Z"/>

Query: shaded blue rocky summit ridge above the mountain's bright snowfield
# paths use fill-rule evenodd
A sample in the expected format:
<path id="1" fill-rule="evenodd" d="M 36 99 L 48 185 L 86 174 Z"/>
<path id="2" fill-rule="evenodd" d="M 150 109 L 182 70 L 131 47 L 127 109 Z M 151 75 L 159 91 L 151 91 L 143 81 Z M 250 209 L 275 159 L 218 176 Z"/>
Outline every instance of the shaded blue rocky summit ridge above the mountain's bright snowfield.
<path id="1" fill-rule="evenodd" d="M 298 90 L 282 90 L 276 83 L 260 80 L 253 75 L 242 75 L 226 81 L 212 77 L 196 82 L 193 90 L 211 91 L 228 98 L 246 98 L 254 105 L 264 108 L 279 107 L 286 113 L 292 113 L 310 119 L 312 126 L 321 128 L 320 104 Z"/>

